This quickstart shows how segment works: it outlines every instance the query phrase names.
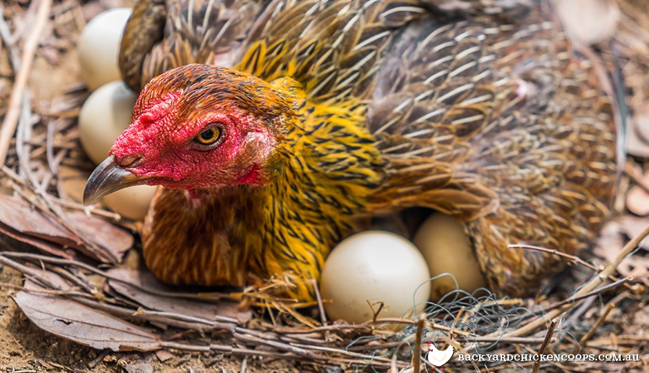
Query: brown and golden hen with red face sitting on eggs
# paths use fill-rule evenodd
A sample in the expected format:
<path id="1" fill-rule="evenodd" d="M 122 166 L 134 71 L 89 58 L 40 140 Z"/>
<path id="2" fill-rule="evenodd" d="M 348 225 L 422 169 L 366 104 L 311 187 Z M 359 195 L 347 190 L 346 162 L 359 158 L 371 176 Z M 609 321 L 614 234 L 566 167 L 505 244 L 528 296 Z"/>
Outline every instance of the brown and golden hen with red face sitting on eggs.
<path id="1" fill-rule="evenodd" d="M 363 218 L 427 207 L 523 295 L 559 260 L 507 245 L 587 247 L 621 156 L 590 61 L 547 9 L 502 2 L 140 1 L 120 61 L 153 79 L 86 202 L 162 185 L 142 232 L 158 278 L 293 274 L 300 299 Z"/>

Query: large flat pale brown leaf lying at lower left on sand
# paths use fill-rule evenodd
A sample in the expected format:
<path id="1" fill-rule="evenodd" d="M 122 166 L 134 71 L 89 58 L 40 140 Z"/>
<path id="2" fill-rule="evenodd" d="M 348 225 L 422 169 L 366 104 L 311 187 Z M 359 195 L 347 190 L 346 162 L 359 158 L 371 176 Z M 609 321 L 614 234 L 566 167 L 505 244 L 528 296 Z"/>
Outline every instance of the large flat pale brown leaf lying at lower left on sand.
<path id="1" fill-rule="evenodd" d="M 136 325 L 60 296 L 20 291 L 14 301 L 39 328 L 97 350 L 153 351 L 159 338 Z"/>

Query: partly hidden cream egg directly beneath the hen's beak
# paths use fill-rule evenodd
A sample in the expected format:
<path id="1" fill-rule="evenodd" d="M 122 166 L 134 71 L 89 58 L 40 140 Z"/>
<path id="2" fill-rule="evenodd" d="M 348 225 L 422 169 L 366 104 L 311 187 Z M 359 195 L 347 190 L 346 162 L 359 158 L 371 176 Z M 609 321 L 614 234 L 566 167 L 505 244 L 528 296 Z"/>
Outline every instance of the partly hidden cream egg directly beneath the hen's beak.
<path id="1" fill-rule="evenodd" d="M 144 220 L 156 187 L 137 185 L 110 193 L 104 197 L 106 206 L 125 218 Z"/>

